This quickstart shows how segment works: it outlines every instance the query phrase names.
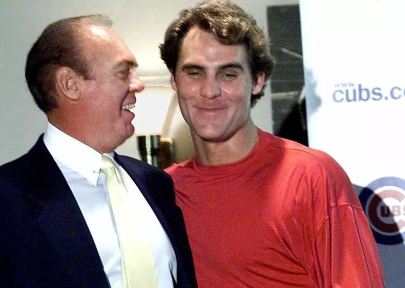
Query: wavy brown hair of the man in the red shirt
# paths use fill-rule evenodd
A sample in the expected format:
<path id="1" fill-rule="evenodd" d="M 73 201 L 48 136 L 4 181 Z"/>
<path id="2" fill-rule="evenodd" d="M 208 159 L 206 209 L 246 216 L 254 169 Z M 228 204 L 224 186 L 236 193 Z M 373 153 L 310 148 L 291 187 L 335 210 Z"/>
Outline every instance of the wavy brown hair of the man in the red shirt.
<path id="1" fill-rule="evenodd" d="M 160 58 L 173 75 L 184 36 L 193 26 L 212 33 L 221 44 L 244 45 L 252 77 L 256 79 L 258 74 L 264 72 L 265 80 L 268 80 L 275 61 L 263 29 L 240 6 L 230 1 L 212 0 L 182 10 L 179 18 L 166 30 L 164 43 L 159 45 Z M 252 107 L 264 95 L 264 87 L 260 93 L 252 95 Z"/>

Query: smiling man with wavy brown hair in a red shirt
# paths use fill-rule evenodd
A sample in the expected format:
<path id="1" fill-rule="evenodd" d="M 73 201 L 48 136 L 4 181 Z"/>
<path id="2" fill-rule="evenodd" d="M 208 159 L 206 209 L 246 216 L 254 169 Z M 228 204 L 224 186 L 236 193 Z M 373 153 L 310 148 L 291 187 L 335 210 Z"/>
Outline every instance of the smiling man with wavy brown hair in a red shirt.
<path id="1" fill-rule="evenodd" d="M 384 287 L 339 164 L 252 121 L 273 68 L 256 21 L 230 2 L 205 2 L 180 13 L 160 51 L 196 150 L 167 171 L 198 286 Z"/>

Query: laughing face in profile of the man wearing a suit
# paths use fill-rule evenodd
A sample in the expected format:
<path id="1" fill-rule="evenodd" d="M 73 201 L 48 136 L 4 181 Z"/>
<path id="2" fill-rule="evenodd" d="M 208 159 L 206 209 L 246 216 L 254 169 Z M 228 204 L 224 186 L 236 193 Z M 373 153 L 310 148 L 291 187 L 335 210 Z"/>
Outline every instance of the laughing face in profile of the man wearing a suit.
<path id="1" fill-rule="evenodd" d="M 135 93 L 144 89 L 137 61 L 123 40 L 110 28 L 90 26 L 85 42 L 91 79 L 84 81 L 83 125 L 99 140 L 99 152 L 109 152 L 134 133 L 131 124 Z"/>

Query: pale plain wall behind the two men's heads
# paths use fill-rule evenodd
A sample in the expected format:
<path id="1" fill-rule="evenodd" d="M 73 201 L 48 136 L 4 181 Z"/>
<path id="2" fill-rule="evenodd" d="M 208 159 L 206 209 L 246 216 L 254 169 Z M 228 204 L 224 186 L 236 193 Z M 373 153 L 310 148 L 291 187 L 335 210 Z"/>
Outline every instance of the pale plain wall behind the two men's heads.
<path id="1" fill-rule="evenodd" d="M 60 18 L 103 13 L 114 21 L 121 35 L 139 62 L 140 76 L 168 75 L 158 55 L 168 24 L 178 12 L 200 1 L 194 0 L 4 0 L 0 4 L 0 164 L 25 153 L 46 126 L 45 115 L 35 106 L 24 79 L 25 57 L 46 25 Z M 267 31 L 266 7 L 297 4 L 298 0 L 235 0 L 255 16 Z M 271 132 L 270 91 L 254 108 L 256 124 Z M 173 135 L 170 135 L 173 136 Z M 187 139 L 185 137 L 184 139 Z M 177 149 L 189 150 L 183 138 Z M 134 142 L 133 140 L 129 140 Z M 128 141 L 127 141 L 128 142 Z M 184 143 L 183 143 L 184 142 Z M 185 146 L 181 149 L 180 146 Z M 137 157 L 136 145 L 125 144 L 119 152 Z M 186 147 L 187 146 L 187 147 Z M 180 147 L 180 148 L 179 148 Z"/>

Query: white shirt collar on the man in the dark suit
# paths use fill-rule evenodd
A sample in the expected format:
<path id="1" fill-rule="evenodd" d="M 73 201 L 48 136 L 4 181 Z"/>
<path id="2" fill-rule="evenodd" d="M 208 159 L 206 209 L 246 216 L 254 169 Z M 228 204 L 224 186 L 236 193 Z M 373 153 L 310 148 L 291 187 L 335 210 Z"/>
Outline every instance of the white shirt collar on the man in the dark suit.
<path id="1" fill-rule="evenodd" d="M 52 157 L 97 185 L 102 156 L 90 146 L 62 132 L 50 122 L 44 135 L 44 143 Z M 113 152 L 108 153 L 113 157 Z"/>

